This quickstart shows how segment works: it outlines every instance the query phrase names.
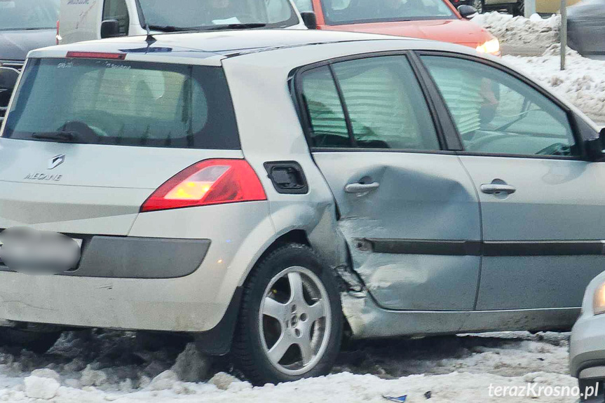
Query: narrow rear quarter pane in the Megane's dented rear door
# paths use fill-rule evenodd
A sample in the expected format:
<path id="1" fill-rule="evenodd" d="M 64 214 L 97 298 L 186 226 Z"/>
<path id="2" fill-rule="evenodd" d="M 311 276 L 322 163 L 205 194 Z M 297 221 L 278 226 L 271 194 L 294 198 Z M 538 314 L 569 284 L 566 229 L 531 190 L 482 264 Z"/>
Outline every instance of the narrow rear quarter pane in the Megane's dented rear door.
<path id="1" fill-rule="evenodd" d="M 302 93 L 311 123 L 311 145 L 351 146 L 344 111 L 329 67 L 304 73 Z"/>

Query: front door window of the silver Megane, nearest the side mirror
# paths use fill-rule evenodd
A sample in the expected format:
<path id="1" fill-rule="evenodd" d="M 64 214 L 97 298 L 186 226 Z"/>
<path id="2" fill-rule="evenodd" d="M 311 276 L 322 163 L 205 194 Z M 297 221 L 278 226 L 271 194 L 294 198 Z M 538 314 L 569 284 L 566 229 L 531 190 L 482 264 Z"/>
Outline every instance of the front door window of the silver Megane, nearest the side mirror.
<path id="1" fill-rule="evenodd" d="M 577 154 L 566 112 L 538 90 L 480 62 L 440 56 L 422 59 L 444 97 L 466 151 Z"/>

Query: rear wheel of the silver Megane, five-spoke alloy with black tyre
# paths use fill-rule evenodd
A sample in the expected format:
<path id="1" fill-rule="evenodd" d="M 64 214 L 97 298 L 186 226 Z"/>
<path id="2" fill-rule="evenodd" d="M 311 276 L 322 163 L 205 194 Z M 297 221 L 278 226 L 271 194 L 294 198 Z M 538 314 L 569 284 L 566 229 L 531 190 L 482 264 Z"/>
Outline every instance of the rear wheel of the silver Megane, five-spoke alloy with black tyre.
<path id="1" fill-rule="evenodd" d="M 310 247 L 285 245 L 261 259 L 245 284 L 233 362 L 254 385 L 326 375 L 342 329 L 334 273 Z"/>

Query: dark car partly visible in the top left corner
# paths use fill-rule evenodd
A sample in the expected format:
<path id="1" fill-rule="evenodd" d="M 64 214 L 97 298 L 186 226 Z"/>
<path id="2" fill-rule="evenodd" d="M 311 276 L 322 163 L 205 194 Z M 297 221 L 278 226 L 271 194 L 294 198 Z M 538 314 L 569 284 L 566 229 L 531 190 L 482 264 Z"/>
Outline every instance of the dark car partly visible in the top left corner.
<path id="1" fill-rule="evenodd" d="M 55 44 L 59 0 L 0 0 L 0 121 L 29 50 Z"/>

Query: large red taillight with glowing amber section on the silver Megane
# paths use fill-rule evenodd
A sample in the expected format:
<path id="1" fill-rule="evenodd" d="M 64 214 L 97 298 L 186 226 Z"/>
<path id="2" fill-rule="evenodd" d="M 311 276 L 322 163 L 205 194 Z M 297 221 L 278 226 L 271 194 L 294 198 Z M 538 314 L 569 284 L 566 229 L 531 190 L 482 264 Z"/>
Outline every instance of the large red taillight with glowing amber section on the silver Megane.
<path id="1" fill-rule="evenodd" d="M 168 179 L 141 212 L 257 200 L 267 196 L 246 160 L 203 160 Z"/>

